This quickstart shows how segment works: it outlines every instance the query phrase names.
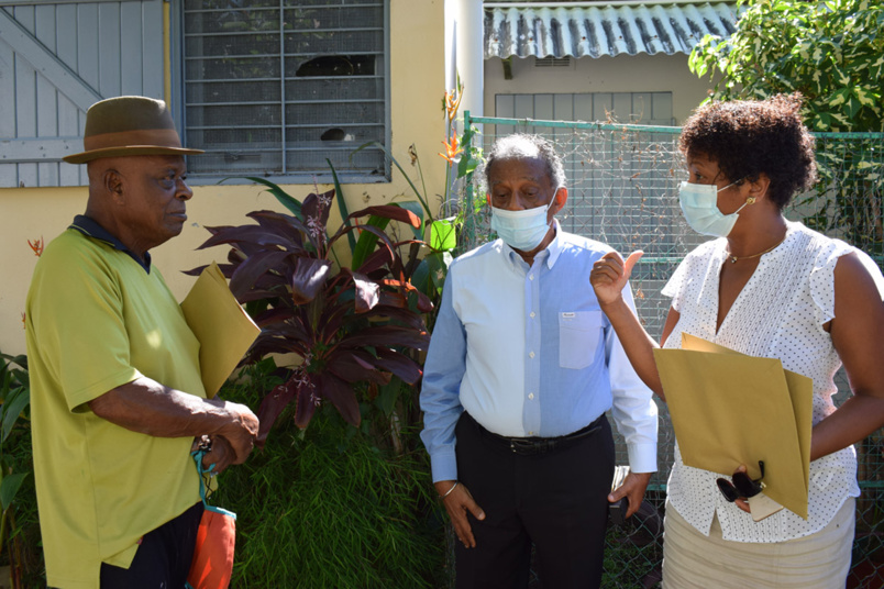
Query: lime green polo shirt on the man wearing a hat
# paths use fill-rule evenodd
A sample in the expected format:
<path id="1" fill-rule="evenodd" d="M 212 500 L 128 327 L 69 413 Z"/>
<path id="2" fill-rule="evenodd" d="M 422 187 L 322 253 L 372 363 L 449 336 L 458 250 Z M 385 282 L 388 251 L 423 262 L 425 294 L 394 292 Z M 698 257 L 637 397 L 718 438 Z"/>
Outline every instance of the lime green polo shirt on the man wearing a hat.
<path id="1" fill-rule="evenodd" d="M 142 375 L 206 397 L 199 343 L 150 258 L 84 216 L 37 262 L 26 337 L 46 580 L 98 588 L 101 563 L 128 568 L 141 536 L 199 501 L 199 481 L 192 437 L 131 432 L 87 403 Z"/>

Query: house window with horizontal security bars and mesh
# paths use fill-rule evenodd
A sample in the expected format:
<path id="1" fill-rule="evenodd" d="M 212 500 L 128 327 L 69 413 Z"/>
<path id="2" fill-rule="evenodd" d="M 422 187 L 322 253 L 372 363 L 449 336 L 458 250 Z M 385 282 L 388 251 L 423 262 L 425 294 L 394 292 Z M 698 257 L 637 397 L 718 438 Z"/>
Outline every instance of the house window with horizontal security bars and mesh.
<path id="1" fill-rule="evenodd" d="M 387 0 L 388 1 L 388 0 Z M 197 176 L 388 176 L 385 0 L 183 0 Z M 354 153 L 355 152 L 355 153 Z"/>

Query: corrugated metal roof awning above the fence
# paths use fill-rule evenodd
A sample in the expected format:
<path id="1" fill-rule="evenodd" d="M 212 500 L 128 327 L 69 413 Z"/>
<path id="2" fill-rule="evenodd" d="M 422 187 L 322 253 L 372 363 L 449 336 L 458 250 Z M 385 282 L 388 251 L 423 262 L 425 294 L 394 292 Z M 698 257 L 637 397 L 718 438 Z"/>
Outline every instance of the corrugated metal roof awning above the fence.
<path id="1" fill-rule="evenodd" d="M 730 36 L 737 5 L 489 7 L 485 58 L 689 54 L 707 34 Z"/>

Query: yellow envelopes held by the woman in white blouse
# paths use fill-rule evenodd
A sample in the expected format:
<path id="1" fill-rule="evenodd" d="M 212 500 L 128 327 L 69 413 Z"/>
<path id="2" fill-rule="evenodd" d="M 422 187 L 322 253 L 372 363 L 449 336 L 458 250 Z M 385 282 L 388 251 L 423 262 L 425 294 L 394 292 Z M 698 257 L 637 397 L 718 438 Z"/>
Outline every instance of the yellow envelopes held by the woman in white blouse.
<path id="1" fill-rule="evenodd" d="M 813 380 L 688 334 L 682 345 L 654 358 L 684 463 L 759 478 L 763 460 L 765 494 L 807 519 Z"/>

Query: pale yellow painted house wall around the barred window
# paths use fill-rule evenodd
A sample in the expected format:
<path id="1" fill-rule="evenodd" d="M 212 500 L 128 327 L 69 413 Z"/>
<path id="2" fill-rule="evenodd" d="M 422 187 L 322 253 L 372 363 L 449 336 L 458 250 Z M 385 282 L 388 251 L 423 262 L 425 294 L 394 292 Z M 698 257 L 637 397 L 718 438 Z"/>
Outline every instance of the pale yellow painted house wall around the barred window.
<path id="1" fill-rule="evenodd" d="M 390 2 L 390 124 L 394 156 L 409 171 L 408 147 L 416 144 L 421 157 L 427 190 L 443 190 L 445 162 L 435 155 L 442 149 L 445 122 L 441 111 L 445 91 L 444 76 L 444 0 L 391 0 Z M 198 157 L 198 156 L 196 156 Z M 196 252 L 208 237 L 203 225 L 241 224 L 244 215 L 257 209 L 284 210 L 270 195 L 257 186 L 194 187 L 188 204 L 188 221 L 180 236 L 152 252 L 169 287 L 181 299 L 194 278 L 180 270 L 224 259 L 228 249 L 216 247 Z M 312 186 L 287 186 L 289 193 L 301 198 Z M 329 186 L 320 186 L 328 190 Z M 413 200 L 401 175 L 394 171 L 393 181 L 343 187 L 350 211 L 368 204 L 388 203 L 395 198 Z M 22 312 L 36 257 L 27 240 L 43 236 L 47 242 L 58 235 L 86 205 L 87 190 L 81 188 L 5 188 L 0 189 L 0 352 L 24 352 Z M 333 211 L 336 214 L 336 209 Z M 340 216 L 332 218 L 336 227 Z M 71 312 L 76 312 L 71 310 Z"/>

